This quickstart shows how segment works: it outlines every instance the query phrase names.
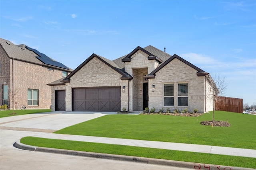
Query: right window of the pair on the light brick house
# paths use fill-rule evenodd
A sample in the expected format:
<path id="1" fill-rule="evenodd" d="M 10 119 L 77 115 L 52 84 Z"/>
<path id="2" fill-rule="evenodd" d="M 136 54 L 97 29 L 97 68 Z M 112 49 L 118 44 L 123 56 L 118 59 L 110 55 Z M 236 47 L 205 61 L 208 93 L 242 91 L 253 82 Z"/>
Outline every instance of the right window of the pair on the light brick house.
<path id="1" fill-rule="evenodd" d="M 188 83 L 178 84 L 178 106 L 188 106 Z"/>

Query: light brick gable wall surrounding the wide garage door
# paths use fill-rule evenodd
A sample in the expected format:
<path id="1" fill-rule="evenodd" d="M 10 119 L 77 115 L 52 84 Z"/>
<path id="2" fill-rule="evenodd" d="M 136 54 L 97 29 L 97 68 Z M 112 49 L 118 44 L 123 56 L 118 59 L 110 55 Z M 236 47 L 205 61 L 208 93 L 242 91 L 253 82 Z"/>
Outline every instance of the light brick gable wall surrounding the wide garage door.
<path id="1" fill-rule="evenodd" d="M 66 83 L 66 111 L 72 111 L 72 88 L 120 86 L 121 109 L 128 109 L 128 80 L 121 80 L 121 74 L 110 68 L 96 57 L 70 78 Z M 125 86 L 125 92 L 122 92 Z"/>

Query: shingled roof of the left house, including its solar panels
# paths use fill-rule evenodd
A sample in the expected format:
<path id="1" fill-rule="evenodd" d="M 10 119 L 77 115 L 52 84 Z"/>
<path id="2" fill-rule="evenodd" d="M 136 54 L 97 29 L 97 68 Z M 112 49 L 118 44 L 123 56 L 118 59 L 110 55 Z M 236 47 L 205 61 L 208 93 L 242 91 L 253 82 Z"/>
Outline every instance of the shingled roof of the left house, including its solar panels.
<path id="1" fill-rule="evenodd" d="M 14 45 L 10 41 L 2 38 L 0 38 L 0 44 L 1 44 L 1 47 L 4 49 L 4 51 L 6 52 L 6 54 L 8 55 L 8 57 L 11 59 L 38 64 L 38 65 L 42 65 L 50 68 L 56 68 L 59 70 L 65 70 L 68 72 L 72 71 L 71 68 L 68 68 L 64 64 L 54 61 L 53 59 L 47 57 L 46 55 L 40 53 L 39 51 L 35 49 L 31 49 L 30 47 L 24 44 Z M 40 58 L 42 58 L 40 55 L 47 57 L 49 62 L 47 63 L 40 60 Z M 52 64 L 51 62 L 58 63 L 59 65 Z"/>

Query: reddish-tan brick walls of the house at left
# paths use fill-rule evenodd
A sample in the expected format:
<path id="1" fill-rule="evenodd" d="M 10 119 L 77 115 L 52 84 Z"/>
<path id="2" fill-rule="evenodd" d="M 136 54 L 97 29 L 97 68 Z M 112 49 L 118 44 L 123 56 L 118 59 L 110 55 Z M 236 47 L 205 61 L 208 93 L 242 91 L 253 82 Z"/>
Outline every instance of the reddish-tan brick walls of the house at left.
<path id="1" fill-rule="evenodd" d="M 2 45 L 0 47 L 0 105 L 3 104 L 3 84 L 8 84 L 8 108 L 50 109 L 52 90 L 47 84 L 62 78 L 62 70 L 51 71 L 43 64 L 10 58 Z M 38 106 L 28 106 L 28 89 L 39 91 Z"/>

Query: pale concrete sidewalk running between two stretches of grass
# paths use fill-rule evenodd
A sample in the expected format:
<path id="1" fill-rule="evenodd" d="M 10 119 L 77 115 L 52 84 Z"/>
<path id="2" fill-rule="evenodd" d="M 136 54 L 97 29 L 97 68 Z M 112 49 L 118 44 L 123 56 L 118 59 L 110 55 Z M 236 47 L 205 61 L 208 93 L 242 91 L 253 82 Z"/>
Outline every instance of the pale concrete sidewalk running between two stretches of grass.
<path id="1" fill-rule="evenodd" d="M 65 135 L 65 134 L 56 134 L 56 133 L 45 133 L 37 137 L 48 138 L 48 139 L 63 139 L 68 141 L 106 143 L 106 144 L 114 144 L 114 145 L 128 145 L 128 146 L 135 146 L 135 147 L 148 147 L 148 148 L 156 148 L 156 149 L 181 150 L 181 151 L 189 151 L 189 152 L 201 152 L 201 153 L 210 153 L 210 154 L 223 154 L 223 155 L 256 158 L 256 150 L 254 149 L 240 149 L 240 148 L 230 148 L 230 147 L 217 147 L 217 146 L 208 146 L 208 145 L 195 145 L 195 144 L 170 143 L 170 142 L 158 142 L 158 141 L 142 141 L 142 140 L 134 140 L 134 139 L 118 139 L 118 138 L 108 138 L 108 137 Z"/>

